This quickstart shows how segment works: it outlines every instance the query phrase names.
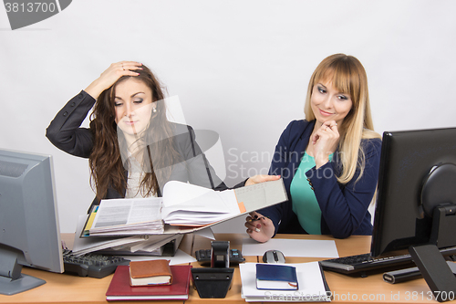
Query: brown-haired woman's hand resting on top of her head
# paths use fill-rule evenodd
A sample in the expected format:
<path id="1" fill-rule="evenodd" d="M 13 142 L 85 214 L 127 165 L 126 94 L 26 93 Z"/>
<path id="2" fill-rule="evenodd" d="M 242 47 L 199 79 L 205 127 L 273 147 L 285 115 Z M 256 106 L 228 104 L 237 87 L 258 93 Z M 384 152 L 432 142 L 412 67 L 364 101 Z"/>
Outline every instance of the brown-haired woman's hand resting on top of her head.
<path id="1" fill-rule="evenodd" d="M 109 66 L 109 68 L 101 73 L 98 79 L 95 79 L 92 83 L 90 83 L 85 91 L 88 95 L 97 100 L 102 91 L 109 89 L 109 87 L 111 87 L 122 76 L 140 75 L 132 70 L 139 69 L 141 66 L 142 64 L 136 61 L 120 61 L 113 63 Z"/>

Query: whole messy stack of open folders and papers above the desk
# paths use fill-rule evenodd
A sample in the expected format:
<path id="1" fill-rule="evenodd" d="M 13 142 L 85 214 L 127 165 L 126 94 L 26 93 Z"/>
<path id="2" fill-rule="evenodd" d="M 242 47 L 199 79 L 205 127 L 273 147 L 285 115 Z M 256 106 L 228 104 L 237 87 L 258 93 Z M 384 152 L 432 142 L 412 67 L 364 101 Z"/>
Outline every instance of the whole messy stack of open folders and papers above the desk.
<path id="1" fill-rule="evenodd" d="M 286 200 L 281 179 L 222 192 L 171 181 L 163 197 L 102 200 L 78 226 L 73 252 L 160 256 L 184 234 Z"/>

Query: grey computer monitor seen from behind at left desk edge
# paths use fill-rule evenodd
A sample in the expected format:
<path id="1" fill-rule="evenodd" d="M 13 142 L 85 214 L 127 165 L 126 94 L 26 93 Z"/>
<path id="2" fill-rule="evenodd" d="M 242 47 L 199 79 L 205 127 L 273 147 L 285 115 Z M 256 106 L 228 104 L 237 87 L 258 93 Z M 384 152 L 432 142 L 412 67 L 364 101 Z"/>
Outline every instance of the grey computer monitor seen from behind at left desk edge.
<path id="1" fill-rule="evenodd" d="M 52 157 L 0 149 L 0 294 L 46 283 L 23 266 L 64 271 Z"/>

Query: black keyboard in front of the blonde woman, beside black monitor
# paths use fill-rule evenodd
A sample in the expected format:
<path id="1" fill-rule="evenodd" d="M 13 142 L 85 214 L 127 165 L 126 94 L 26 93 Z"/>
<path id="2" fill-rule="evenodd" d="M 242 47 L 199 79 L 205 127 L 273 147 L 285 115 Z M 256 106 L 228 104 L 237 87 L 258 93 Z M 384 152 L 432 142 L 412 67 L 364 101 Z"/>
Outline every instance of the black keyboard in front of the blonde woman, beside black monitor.
<path id="1" fill-rule="evenodd" d="M 450 256 L 456 253 L 456 247 L 440 249 L 443 256 Z M 361 273 L 361 276 L 367 272 L 375 270 L 385 270 L 385 268 L 404 268 L 405 265 L 414 267 L 415 263 L 409 254 L 392 256 L 392 257 L 371 257 L 370 254 L 362 254 L 358 256 L 338 257 L 326 259 L 320 262 L 325 270 L 330 270 L 346 275 Z"/>

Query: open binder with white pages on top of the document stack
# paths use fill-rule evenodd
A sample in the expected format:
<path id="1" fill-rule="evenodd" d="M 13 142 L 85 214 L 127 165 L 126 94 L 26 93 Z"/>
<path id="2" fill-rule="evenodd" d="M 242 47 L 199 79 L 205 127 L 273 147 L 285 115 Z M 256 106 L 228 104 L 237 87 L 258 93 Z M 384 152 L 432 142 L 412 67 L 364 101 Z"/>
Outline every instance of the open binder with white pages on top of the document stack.
<path id="1" fill-rule="evenodd" d="M 282 179 L 221 192 L 190 183 L 171 181 L 165 184 L 162 198 L 102 200 L 99 207 L 88 215 L 81 237 L 186 234 L 285 202 L 287 199 Z M 135 204 L 138 201 L 140 204 Z M 159 203 L 161 208 L 156 208 Z M 141 230 L 150 224 L 143 215 L 140 216 L 140 222 L 129 223 L 130 215 L 139 213 L 134 208 L 144 210 L 145 204 L 153 206 L 150 210 L 161 210 L 160 214 L 150 213 L 150 222 L 155 223 L 158 218 L 159 221 L 164 222 L 161 230 L 156 228 Z M 110 208 L 115 209 L 119 218 L 123 218 L 124 221 L 113 220 L 112 222 L 117 225 L 110 226 L 106 222 L 99 221 L 104 215 L 114 216 Z M 160 215 L 161 218 L 158 217 Z M 98 223 L 102 224 L 98 225 Z M 101 227 L 104 233 L 92 234 L 92 231 L 97 231 L 94 228 L 98 227 Z"/>

